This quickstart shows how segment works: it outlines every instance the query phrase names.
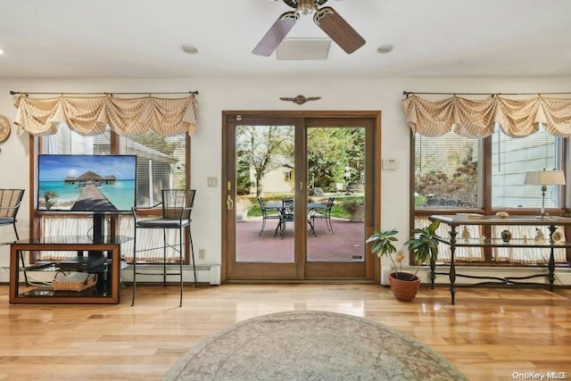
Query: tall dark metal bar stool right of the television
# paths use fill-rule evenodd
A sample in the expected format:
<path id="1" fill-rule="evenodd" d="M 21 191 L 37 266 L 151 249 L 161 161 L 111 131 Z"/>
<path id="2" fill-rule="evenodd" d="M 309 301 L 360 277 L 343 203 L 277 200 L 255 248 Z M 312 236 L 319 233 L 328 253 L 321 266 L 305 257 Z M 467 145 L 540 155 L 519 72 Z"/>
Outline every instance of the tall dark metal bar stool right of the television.
<path id="1" fill-rule="evenodd" d="M 194 265 L 194 246 L 193 237 L 190 232 L 190 222 L 191 222 L 191 212 L 194 206 L 194 195 L 196 191 L 194 189 L 165 189 L 162 191 L 162 202 L 154 205 L 151 208 L 133 208 L 133 218 L 135 219 L 135 235 L 133 243 L 133 300 L 131 305 L 135 305 L 135 294 L 137 290 L 137 274 L 139 275 L 154 275 L 162 277 L 162 284 L 166 286 L 167 276 L 178 276 L 178 283 L 180 284 L 180 302 L 179 307 L 182 307 L 182 294 L 183 294 L 183 262 L 185 260 L 185 252 L 183 251 L 183 244 L 185 235 L 183 231 L 186 231 L 186 238 L 190 244 L 190 253 L 192 254 L 193 261 L 193 271 L 194 271 L 194 286 L 198 287 L 198 282 L 196 279 L 196 267 Z M 162 216 L 158 219 L 140 219 L 141 215 L 138 214 L 140 211 L 153 209 L 161 205 Z M 140 229 L 162 229 L 162 246 L 153 247 L 137 250 L 137 230 Z M 178 230 L 178 245 L 169 244 L 167 242 L 167 229 L 177 229 Z M 148 252 L 150 250 L 155 250 L 157 248 L 162 248 L 162 270 L 160 272 L 152 272 L 152 269 L 145 270 L 147 265 L 156 265 L 157 261 L 141 261 L 137 263 L 137 253 Z M 167 269 L 167 264 L 172 263 L 167 258 L 167 248 L 173 249 L 178 253 L 178 270 L 176 272 L 171 272 Z M 137 271 L 137 268 L 142 269 L 142 271 Z"/>

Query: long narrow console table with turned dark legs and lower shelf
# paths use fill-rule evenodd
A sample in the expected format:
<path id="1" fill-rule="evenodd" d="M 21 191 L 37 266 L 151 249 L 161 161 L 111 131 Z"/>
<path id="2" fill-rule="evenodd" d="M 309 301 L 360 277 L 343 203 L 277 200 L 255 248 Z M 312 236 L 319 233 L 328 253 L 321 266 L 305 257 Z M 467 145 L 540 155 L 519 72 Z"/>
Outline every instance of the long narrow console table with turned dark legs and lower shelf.
<path id="1" fill-rule="evenodd" d="M 503 283 L 516 284 L 517 280 L 529 279 L 532 277 L 547 277 L 549 280 L 549 289 L 553 291 L 553 282 L 555 281 L 555 257 L 553 250 L 555 248 L 570 248 L 571 242 L 554 242 L 552 239 L 553 233 L 558 227 L 568 227 L 571 226 L 571 219 L 565 217 L 549 217 L 545 219 L 538 219 L 534 216 L 511 216 L 509 218 L 501 219 L 496 216 L 482 216 L 477 218 L 466 218 L 457 215 L 443 216 L 434 215 L 428 217 L 431 221 L 438 220 L 443 224 L 450 227 L 450 238 L 439 237 L 437 238 L 439 242 L 443 244 L 450 245 L 451 251 L 451 263 L 450 271 L 448 273 L 437 273 L 435 271 L 435 261 L 430 262 L 430 280 L 431 287 L 434 288 L 434 279 L 436 274 L 448 274 L 450 277 L 450 294 L 451 303 L 454 304 L 454 296 L 456 294 L 456 277 L 472 277 L 472 278 L 482 278 L 482 279 L 495 279 L 500 280 Z M 501 237 L 492 237 L 480 240 L 478 238 L 470 239 L 460 239 L 457 240 L 458 228 L 460 225 L 479 225 L 479 226 L 537 226 L 537 227 L 548 227 L 550 230 L 550 236 L 545 239 L 544 243 L 534 242 L 534 238 L 529 238 L 525 240 L 523 238 L 510 239 L 509 242 L 504 242 Z M 550 258 L 547 263 L 547 274 L 537 274 L 528 277 L 476 277 L 461 275 L 456 273 L 456 265 L 454 260 L 454 252 L 456 247 L 531 247 L 531 248 L 549 248 Z"/>

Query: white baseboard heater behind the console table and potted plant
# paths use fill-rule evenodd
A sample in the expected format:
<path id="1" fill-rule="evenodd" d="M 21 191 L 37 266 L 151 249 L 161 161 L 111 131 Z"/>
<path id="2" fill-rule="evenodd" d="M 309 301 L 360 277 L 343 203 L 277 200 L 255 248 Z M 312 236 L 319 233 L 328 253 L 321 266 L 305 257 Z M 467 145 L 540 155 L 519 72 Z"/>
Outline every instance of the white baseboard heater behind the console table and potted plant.
<path id="1" fill-rule="evenodd" d="M 413 267 L 402 267 L 403 271 L 414 273 L 416 268 Z M 436 272 L 448 272 L 450 270 L 449 266 L 438 266 Z M 389 274 L 393 272 L 393 269 L 383 268 L 381 270 L 381 285 L 389 285 Z M 456 284 L 457 285 L 474 285 L 476 283 L 481 283 L 488 281 L 486 279 L 473 279 L 469 277 L 459 277 L 459 274 L 477 276 L 477 277 L 527 277 L 530 275 L 547 275 L 546 268 L 532 268 L 532 267 L 521 267 L 521 268 L 497 268 L 497 267 L 469 267 L 469 266 L 456 266 Z M 418 276 L 420 277 L 421 283 L 430 283 L 430 269 L 423 267 L 418 270 Z M 490 280 L 492 281 L 492 280 Z M 525 282 L 537 283 L 537 284 L 549 284 L 547 277 L 534 277 L 531 279 L 525 279 Z M 450 278 L 448 275 L 437 275 L 434 280 L 434 284 L 448 285 L 450 283 Z M 555 269 L 555 285 L 559 286 L 569 286 L 571 285 L 571 269 Z"/>

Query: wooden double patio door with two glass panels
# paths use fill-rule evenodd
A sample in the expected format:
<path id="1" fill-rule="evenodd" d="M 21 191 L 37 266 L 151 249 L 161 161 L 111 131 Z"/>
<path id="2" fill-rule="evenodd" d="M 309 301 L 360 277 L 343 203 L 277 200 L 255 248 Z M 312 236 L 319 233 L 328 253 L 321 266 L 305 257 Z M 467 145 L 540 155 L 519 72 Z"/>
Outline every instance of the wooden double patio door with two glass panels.
<path id="1" fill-rule="evenodd" d="M 377 112 L 224 112 L 223 280 L 373 279 Z"/>

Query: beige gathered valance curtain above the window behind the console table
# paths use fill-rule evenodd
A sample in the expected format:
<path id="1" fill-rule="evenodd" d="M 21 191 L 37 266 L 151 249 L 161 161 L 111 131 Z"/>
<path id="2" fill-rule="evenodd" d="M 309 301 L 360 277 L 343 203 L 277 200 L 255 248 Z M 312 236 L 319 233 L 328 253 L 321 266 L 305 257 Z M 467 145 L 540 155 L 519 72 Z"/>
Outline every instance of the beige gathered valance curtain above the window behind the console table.
<path id="1" fill-rule="evenodd" d="M 488 137 L 497 123 L 509 137 L 527 137 L 540 124 L 556 137 L 571 137 L 571 99 L 538 95 L 529 100 L 492 95 L 473 101 L 452 96 L 430 102 L 409 95 L 402 100 L 407 123 L 425 137 L 441 137 L 453 131 L 462 137 Z"/>

